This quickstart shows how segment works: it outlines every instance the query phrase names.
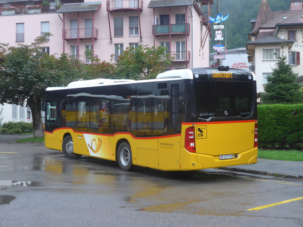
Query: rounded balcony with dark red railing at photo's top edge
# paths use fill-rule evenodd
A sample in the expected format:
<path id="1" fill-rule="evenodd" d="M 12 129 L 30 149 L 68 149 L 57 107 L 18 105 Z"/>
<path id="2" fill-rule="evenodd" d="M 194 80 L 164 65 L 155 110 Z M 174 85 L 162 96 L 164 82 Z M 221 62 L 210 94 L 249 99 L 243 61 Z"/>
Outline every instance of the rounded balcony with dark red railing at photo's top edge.
<path id="1" fill-rule="evenodd" d="M 143 0 L 112 0 L 106 1 L 106 10 L 108 12 L 126 12 L 143 9 Z"/>

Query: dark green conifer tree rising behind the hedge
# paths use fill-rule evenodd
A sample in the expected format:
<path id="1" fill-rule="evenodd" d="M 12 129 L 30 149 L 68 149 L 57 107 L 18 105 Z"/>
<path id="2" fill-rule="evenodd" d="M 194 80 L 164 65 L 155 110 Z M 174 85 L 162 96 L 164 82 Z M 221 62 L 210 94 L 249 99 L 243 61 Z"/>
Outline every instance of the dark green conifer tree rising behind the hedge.
<path id="1" fill-rule="evenodd" d="M 282 54 L 278 56 L 278 61 L 272 68 L 272 74 L 266 76 L 265 94 L 261 96 L 265 104 L 298 104 L 302 103 L 303 93 L 300 91 L 302 85 L 297 83 L 298 74 L 292 71 L 291 65 L 287 63 L 284 55 L 284 45 Z"/>

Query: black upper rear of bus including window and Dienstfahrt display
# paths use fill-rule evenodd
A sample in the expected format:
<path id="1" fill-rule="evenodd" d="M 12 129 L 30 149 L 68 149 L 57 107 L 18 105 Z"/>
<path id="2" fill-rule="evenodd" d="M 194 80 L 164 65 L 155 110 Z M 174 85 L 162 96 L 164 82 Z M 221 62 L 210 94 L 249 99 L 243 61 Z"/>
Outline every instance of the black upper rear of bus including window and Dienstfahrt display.
<path id="1" fill-rule="evenodd" d="M 256 83 L 251 72 L 239 69 L 192 69 L 193 82 L 183 86 L 183 121 L 257 119 Z"/>

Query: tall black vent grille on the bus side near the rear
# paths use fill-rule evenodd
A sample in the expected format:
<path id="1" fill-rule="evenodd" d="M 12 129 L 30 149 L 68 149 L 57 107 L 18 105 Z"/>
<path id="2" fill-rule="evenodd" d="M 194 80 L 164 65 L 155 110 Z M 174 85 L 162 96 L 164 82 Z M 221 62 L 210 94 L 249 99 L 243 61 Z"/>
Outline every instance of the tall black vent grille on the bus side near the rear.
<path id="1" fill-rule="evenodd" d="M 178 127 L 179 122 L 179 84 L 171 84 L 170 127 Z"/>

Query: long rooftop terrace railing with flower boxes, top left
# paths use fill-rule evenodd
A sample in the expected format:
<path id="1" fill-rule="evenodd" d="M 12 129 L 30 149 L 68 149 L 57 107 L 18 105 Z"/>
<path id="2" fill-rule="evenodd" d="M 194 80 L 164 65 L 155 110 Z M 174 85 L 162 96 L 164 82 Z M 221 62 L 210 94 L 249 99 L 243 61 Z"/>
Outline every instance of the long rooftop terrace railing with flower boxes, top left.
<path id="1" fill-rule="evenodd" d="M 62 5 L 39 6 L 30 8 L 26 6 L 18 6 L 13 8 L 0 8 L 1 15 L 18 15 L 18 14 L 34 14 L 34 13 L 55 13 Z"/>

